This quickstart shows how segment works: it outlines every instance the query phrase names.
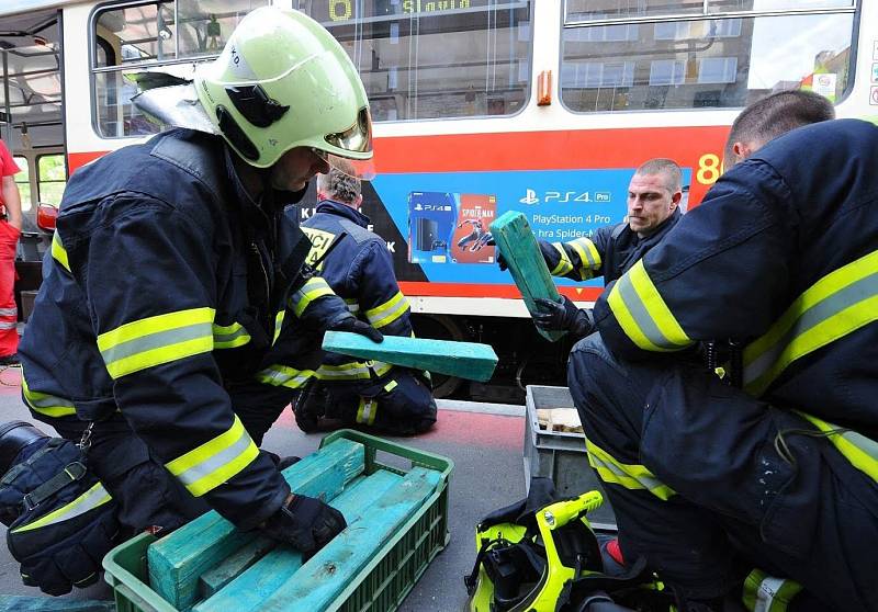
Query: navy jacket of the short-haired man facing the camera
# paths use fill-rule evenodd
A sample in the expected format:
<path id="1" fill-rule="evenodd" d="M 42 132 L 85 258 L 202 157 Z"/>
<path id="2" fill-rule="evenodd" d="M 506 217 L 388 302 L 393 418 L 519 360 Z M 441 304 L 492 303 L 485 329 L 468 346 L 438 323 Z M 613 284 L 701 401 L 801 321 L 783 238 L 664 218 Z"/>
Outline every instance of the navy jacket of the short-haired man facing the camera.
<path id="1" fill-rule="evenodd" d="M 592 237 L 569 242 L 539 240 L 540 251 L 552 276 L 587 281 L 604 276 L 604 285 L 621 276 L 655 247 L 680 218 L 676 208 L 652 234 L 640 238 L 627 222 L 599 227 Z"/>

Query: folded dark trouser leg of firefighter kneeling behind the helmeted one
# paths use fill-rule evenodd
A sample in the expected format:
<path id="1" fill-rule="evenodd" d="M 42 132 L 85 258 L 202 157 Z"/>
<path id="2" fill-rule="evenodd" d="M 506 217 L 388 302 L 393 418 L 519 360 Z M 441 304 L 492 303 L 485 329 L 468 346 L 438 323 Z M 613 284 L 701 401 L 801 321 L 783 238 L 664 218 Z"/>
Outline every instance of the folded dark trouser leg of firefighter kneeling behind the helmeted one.
<path id="1" fill-rule="evenodd" d="M 427 431 L 436 422 L 432 392 L 410 370 L 394 367 L 373 381 L 311 384 L 316 387 L 308 395 L 326 403 L 324 415 L 348 426 L 408 435 Z"/>

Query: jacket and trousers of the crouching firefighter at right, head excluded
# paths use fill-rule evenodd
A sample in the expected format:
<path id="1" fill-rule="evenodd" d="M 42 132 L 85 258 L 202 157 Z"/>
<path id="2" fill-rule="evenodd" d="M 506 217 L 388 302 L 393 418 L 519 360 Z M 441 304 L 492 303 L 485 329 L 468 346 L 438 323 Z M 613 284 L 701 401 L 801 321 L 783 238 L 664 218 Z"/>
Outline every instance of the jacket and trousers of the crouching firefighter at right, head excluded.
<path id="1" fill-rule="evenodd" d="M 772 140 L 608 287 L 571 355 L 622 552 L 691 609 L 743 589 L 751 610 L 878 610 L 877 158 L 856 120 Z M 743 388 L 688 359 L 716 339 L 744 347 Z"/>

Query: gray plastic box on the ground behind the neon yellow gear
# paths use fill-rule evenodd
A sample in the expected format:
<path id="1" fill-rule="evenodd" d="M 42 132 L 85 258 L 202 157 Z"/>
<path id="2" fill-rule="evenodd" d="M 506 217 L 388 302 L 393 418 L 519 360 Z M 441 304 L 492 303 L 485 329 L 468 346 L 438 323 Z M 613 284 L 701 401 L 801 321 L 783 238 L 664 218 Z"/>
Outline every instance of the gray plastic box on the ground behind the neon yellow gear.
<path id="1" fill-rule="evenodd" d="M 588 465 L 585 435 L 566 431 L 540 429 L 537 409 L 574 408 L 567 387 L 528 385 L 525 412 L 525 487 L 530 488 L 531 476 L 547 476 L 555 490 L 573 497 L 589 490 L 604 495 L 604 505 L 588 514 L 597 529 L 616 529 L 616 515 L 607 494 L 595 471 Z"/>

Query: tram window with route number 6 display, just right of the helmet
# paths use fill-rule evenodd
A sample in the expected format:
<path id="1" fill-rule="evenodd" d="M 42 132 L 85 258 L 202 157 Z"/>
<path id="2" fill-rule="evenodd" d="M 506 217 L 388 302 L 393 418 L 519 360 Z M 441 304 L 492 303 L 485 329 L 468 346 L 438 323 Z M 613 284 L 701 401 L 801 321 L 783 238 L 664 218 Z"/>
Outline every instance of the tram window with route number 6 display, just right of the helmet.
<path id="1" fill-rule="evenodd" d="M 528 100 L 531 0 L 294 0 L 348 52 L 375 121 L 510 115 Z"/>

